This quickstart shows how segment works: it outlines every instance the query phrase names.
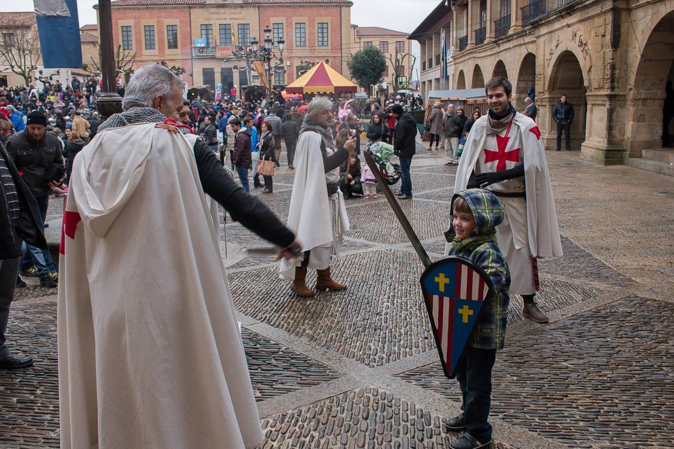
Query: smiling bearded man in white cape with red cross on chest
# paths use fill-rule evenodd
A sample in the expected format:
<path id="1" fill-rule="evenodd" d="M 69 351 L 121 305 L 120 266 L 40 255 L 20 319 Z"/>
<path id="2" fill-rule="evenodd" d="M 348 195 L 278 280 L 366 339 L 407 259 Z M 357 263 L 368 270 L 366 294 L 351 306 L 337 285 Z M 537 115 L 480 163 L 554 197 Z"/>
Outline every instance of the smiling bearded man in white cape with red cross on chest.
<path id="1" fill-rule="evenodd" d="M 491 79 L 485 91 L 489 112 L 470 129 L 454 191 L 482 187 L 499 197 L 505 218 L 496 227 L 496 238 L 510 267 L 510 293 L 524 298 L 524 316 L 548 322 L 534 302 L 539 287 L 536 259 L 561 256 L 562 251 L 541 131 L 512 108 L 508 79 Z M 452 231 L 450 223 L 450 236 Z"/>

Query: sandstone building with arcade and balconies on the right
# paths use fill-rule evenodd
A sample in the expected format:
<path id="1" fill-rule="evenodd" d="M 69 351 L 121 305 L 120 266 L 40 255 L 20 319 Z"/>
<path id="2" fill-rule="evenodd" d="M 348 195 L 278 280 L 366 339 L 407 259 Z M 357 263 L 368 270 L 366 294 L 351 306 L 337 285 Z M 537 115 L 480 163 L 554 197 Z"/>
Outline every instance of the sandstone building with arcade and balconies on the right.
<path id="1" fill-rule="evenodd" d="M 663 144 L 673 29 L 674 0 L 443 0 L 410 39 L 421 45 L 424 96 L 439 85 L 444 30 L 454 48 L 446 88 L 483 88 L 503 75 L 520 110 L 534 90 L 548 148 L 557 135 L 551 112 L 565 94 L 576 112 L 572 147 L 582 159 L 645 166 L 638 158 Z"/>

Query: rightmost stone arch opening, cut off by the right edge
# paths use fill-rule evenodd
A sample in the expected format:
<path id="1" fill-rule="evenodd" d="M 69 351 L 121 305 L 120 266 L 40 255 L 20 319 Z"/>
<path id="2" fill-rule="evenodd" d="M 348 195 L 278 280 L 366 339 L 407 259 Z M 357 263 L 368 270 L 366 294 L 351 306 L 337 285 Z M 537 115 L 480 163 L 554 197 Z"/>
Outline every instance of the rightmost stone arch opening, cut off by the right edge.
<path id="1" fill-rule="evenodd" d="M 666 139 L 663 102 L 667 81 L 674 81 L 673 29 L 674 11 L 670 11 L 652 28 L 642 47 L 644 50 L 627 92 L 625 149 L 628 156 L 638 157 L 642 149 L 660 148 L 663 137 Z"/>

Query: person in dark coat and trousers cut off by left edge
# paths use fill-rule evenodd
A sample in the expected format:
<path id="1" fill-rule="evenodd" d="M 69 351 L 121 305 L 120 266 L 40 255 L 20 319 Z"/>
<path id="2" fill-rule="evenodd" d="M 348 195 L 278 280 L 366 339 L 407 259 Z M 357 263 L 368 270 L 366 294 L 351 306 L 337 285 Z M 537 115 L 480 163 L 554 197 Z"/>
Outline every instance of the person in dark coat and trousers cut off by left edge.
<path id="1" fill-rule="evenodd" d="M 0 369 L 4 370 L 33 364 L 31 357 L 12 355 L 5 344 L 23 240 L 38 248 L 47 248 L 38 204 L 0 143 Z"/>

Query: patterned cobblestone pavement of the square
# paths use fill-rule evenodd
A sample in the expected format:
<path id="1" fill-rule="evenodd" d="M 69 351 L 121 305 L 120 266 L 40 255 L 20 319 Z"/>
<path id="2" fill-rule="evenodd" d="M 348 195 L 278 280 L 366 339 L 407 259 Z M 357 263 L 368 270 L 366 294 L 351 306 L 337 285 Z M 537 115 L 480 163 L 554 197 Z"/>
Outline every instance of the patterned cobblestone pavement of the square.
<path id="1" fill-rule="evenodd" d="M 403 201 L 431 258 L 456 168 L 419 146 L 414 199 Z M 578 153 L 547 152 L 564 256 L 539 261 L 537 302 L 551 317 L 522 317 L 512 296 L 506 347 L 494 371 L 494 447 L 674 446 L 674 180 Z M 287 216 L 294 173 L 259 196 Z M 398 186 L 394 186 L 394 189 Z M 637 206 L 638 205 L 638 206 Z M 459 391 L 443 377 L 419 291 L 422 266 L 386 203 L 347 201 L 351 230 L 332 264 L 345 292 L 292 294 L 273 248 L 228 217 L 243 255 L 228 267 L 266 442 L 261 448 L 446 448 L 441 429 Z M 52 199 L 59 229 L 62 199 Z M 0 372 L 0 447 L 58 446 L 55 289 L 18 289 L 9 322 L 28 370 Z M 309 275 L 309 287 L 315 275 Z M 224 445 L 223 447 L 226 447 Z"/>

